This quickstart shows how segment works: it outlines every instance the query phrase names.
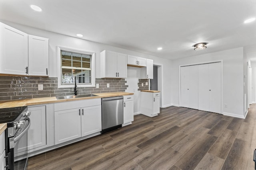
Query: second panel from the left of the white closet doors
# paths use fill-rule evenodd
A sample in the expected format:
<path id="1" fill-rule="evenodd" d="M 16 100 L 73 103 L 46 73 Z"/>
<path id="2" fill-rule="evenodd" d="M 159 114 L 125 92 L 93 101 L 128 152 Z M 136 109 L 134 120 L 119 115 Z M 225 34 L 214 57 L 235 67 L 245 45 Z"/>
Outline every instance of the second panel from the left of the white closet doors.
<path id="1" fill-rule="evenodd" d="M 189 67 L 189 108 L 198 109 L 198 65 Z"/>

